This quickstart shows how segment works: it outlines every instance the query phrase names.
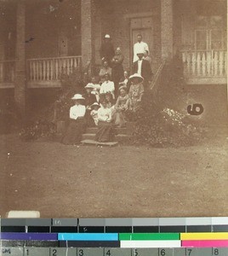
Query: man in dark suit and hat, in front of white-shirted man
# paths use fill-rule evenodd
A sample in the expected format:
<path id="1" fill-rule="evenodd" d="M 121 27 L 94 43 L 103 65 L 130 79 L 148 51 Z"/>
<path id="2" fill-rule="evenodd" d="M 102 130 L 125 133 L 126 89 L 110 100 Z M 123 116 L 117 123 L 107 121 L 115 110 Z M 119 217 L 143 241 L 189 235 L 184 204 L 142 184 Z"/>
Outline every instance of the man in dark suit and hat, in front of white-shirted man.
<path id="1" fill-rule="evenodd" d="M 152 77 L 151 64 L 149 61 L 143 59 L 144 53 L 138 53 L 137 55 L 139 60 L 133 63 L 133 73 L 138 73 L 144 78 L 144 89 L 148 90 L 149 82 L 151 82 Z"/>

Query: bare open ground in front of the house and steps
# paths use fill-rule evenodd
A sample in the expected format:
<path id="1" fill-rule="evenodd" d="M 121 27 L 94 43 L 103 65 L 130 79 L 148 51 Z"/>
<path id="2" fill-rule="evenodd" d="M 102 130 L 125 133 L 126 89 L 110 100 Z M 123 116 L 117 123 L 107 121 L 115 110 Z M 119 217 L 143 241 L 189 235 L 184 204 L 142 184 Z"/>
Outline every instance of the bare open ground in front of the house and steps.
<path id="1" fill-rule="evenodd" d="M 228 141 L 186 148 L 66 146 L 1 136 L 0 214 L 227 216 Z"/>

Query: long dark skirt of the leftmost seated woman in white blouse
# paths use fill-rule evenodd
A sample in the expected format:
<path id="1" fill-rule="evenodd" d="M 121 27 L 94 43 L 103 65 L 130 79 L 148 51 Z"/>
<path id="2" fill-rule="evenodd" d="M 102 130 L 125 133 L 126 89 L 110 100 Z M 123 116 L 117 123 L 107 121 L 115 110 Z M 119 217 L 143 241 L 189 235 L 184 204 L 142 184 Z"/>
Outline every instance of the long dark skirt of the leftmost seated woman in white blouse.
<path id="1" fill-rule="evenodd" d="M 71 119 L 65 135 L 62 137 L 61 143 L 66 145 L 75 145 L 81 143 L 85 127 L 85 119 Z"/>

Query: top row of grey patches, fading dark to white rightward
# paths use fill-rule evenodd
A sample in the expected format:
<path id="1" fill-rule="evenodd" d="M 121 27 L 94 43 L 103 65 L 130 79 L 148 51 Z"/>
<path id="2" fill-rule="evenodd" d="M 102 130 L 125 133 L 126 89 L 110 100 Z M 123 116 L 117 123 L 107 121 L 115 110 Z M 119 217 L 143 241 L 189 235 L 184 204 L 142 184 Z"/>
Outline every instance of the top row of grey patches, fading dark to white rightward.
<path id="1" fill-rule="evenodd" d="M 191 226 L 228 225 L 227 217 L 212 218 L 2 218 L 2 226 Z"/>

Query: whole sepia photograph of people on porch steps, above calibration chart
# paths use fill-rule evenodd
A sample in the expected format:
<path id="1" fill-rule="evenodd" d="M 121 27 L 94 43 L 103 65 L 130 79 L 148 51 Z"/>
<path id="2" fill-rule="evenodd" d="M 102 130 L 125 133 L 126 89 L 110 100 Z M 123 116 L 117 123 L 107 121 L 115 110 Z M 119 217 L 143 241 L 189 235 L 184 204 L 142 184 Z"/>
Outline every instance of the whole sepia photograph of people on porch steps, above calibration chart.
<path id="1" fill-rule="evenodd" d="M 0 215 L 224 217 L 227 95 L 226 0 L 0 0 Z"/>

